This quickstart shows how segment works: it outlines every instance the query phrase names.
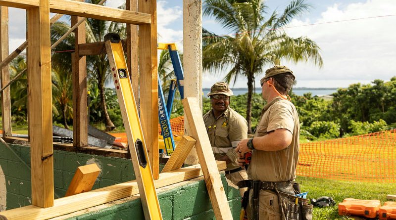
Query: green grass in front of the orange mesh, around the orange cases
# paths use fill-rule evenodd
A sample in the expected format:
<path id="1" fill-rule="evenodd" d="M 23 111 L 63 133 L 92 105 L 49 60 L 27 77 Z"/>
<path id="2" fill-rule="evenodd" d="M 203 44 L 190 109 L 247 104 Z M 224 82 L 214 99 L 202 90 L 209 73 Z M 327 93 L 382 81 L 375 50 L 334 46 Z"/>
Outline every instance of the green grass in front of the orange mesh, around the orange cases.
<path id="1" fill-rule="evenodd" d="M 314 208 L 314 220 L 352 220 L 338 215 L 338 203 L 345 198 L 378 199 L 383 205 L 388 194 L 396 193 L 395 183 L 352 182 L 303 176 L 298 176 L 297 182 L 300 183 L 301 192 L 309 192 L 307 199 L 329 196 L 336 201 L 337 205 L 333 207 Z"/>

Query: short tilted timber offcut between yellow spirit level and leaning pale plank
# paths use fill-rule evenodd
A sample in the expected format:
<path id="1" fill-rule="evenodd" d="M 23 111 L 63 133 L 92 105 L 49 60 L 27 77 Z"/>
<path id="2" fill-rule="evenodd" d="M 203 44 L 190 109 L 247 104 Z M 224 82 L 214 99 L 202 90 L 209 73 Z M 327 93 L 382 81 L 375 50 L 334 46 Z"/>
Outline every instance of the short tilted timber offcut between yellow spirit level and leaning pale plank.
<path id="1" fill-rule="evenodd" d="M 196 140 L 194 138 L 183 135 L 161 173 L 180 169 L 191 149 L 194 147 L 195 142 Z"/>

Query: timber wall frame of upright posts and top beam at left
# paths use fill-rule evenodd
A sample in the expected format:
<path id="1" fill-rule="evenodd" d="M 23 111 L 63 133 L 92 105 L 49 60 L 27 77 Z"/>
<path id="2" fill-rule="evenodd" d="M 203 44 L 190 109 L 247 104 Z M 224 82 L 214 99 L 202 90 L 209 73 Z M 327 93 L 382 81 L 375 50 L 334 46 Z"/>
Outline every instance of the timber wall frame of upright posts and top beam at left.
<path id="1" fill-rule="evenodd" d="M 52 101 L 51 101 L 51 51 L 49 13 L 72 16 L 72 25 L 81 17 L 127 23 L 127 53 L 131 73 L 137 73 L 139 60 L 141 74 L 133 74 L 135 82 L 140 82 L 141 121 L 148 146 L 149 161 L 155 179 L 159 177 L 158 152 L 158 102 L 157 102 L 157 32 L 156 0 L 126 0 L 128 9 L 110 8 L 90 4 L 83 0 L 0 0 L 1 37 L 0 59 L 8 56 L 8 8 L 17 7 L 27 11 L 27 76 L 28 84 L 28 130 L 31 146 L 32 205 L 42 208 L 54 205 L 53 192 L 53 144 L 52 144 Z M 139 10 L 137 10 L 139 5 Z M 80 16 L 80 17 L 78 17 Z M 139 28 L 140 39 L 137 39 Z M 139 43 L 139 47 L 137 46 Z M 87 119 L 87 64 L 86 55 L 98 54 L 97 50 L 81 54 L 80 45 L 85 44 L 85 22 L 75 30 L 75 53 L 73 66 L 73 146 L 96 150 L 89 147 Z M 91 48 L 99 48 L 102 42 Z M 138 49 L 139 48 L 139 49 Z M 139 57 L 140 59 L 137 59 Z M 133 69 L 132 69 L 133 68 Z M 137 78 L 138 76 L 139 78 Z M 2 86 L 9 81 L 8 68 L 1 71 Z M 138 84 L 134 85 L 138 91 Z M 137 94 L 137 93 L 136 93 Z M 11 135 L 11 113 L 9 88 L 1 95 L 3 137 Z M 9 142 L 18 138 L 6 138 Z M 19 141 L 27 141 L 19 139 Z M 64 144 L 57 147 L 71 148 Z M 104 150 L 106 151 L 106 150 Z M 108 151 L 108 150 L 107 150 Z M 114 152 L 114 151 L 112 151 Z M 116 152 L 122 154 L 121 152 Z M 126 154 L 126 153 L 125 153 Z"/>

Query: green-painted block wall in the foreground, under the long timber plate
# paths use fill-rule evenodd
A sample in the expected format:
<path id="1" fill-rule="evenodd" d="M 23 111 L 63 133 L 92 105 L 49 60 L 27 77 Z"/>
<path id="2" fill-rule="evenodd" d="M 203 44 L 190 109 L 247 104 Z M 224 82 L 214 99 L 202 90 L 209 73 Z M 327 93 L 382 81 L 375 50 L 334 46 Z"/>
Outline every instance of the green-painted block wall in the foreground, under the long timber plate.
<path id="1" fill-rule="evenodd" d="M 241 212 L 239 191 L 228 186 L 224 175 L 221 178 L 233 219 L 238 220 Z M 203 177 L 177 185 L 166 191 L 158 190 L 158 200 L 164 220 L 215 220 Z M 83 214 L 69 214 L 54 220 L 144 220 L 141 200 L 137 197 L 125 200 L 118 204 L 108 203 L 92 208 L 88 213 L 84 210 L 80 212 Z"/>

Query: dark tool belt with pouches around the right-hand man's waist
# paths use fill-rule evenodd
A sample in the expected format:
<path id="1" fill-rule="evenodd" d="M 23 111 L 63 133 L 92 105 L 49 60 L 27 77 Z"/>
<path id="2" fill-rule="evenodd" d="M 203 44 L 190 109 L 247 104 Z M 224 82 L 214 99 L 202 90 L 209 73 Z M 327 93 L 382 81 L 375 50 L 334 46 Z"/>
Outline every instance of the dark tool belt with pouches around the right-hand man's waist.
<path id="1" fill-rule="evenodd" d="M 251 220 L 259 220 L 258 200 L 260 190 L 271 190 L 278 195 L 282 220 L 312 220 L 312 208 L 309 200 L 294 196 L 299 193 L 299 185 L 293 181 L 263 182 L 260 180 L 243 180 L 237 183 L 240 188 L 252 190 Z M 244 199 L 247 199 L 244 197 Z M 245 202 L 247 204 L 247 202 Z M 246 207 L 244 207 L 246 209 Z"/>

